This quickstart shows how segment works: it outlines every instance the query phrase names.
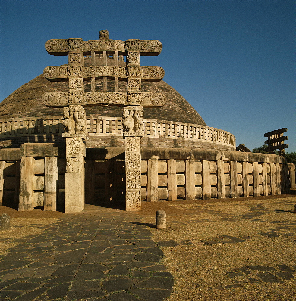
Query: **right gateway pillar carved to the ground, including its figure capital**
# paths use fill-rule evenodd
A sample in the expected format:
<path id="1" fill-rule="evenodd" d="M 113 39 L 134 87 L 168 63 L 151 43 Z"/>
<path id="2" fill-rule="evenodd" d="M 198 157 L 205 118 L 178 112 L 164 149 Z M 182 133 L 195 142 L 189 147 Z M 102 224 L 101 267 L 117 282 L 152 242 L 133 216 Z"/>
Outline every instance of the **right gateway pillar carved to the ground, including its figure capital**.
<path id="1" fill-rule="evenodd" d="M 125 140 L 125 210 L 141 210 L 141 138 L 143 136 L 143 108 L 123 109 L 123 137 Z"/>

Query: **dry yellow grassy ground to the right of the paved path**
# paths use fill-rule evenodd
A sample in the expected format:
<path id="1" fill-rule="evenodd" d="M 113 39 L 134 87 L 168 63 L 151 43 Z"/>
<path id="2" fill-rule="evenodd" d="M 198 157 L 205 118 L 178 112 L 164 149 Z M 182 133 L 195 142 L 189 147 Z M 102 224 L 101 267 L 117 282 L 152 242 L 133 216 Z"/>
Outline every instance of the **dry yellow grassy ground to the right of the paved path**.
<path id="1" fill-rule="evenodd" d="M 175 240 L 179 243 L 176 247 L 162 247 L 165 253 L 163 263 L 175 280 L 173 293 L 166 301 L 296 300 L 295 279 L 278 278 L 281 282 L 263 282 L 258 278 L 262 271 L 248 270 L 250 274 L 245 275 L 239 270 L 261 265 L 275 268 L 276 271 L 281 264 L 296 270 L 296 237 L 282 235 L 287 232 L 296 234 L 296 214 L 290 212 L 294 210 L 295 203 L 296 197 L 288 197 L 169 205 L 178 209 L 178 215 L 168 215 L 166 229 L 151 228 L 156 242 Z M 252 213 L 257 216 L 244 217 Z M 153 224 L 155 218 L 146 216 L 143 221 Z M 271 230 L 280 226 L 291 228 Z M 270 230 L 279 231 L 280 235 L 268 237 L 259 234 Z M 213 237 L 221 235 L 238 238 L 248 236 L 248 239 L 213 245 L 200 241 L 211 241 Z M 188 244 L 188 241 L 192 244 Z M 231 274 L 227 272 L 231 270 L 240 273 L 230 278 Z M 275 275 L 275 272 L 271 274 Z M 252 282 L 255 279 L 259 281 L 251 283 L 247 277 L 253 278 Z M 240 287 L 227 288 L 234 284 Z"/>

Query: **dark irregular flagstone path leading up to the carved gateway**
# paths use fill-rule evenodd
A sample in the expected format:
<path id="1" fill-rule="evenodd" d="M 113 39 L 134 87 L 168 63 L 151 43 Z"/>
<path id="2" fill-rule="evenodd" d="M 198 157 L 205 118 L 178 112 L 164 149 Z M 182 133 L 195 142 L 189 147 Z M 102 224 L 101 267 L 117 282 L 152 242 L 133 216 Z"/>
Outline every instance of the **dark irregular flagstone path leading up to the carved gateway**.
<path id="1" fill-rule="evenodd" d="M 2 258 L 0 300 L 161 301 L 174 281 L 151 236 L 128 213 L 64 216 Z"/>

